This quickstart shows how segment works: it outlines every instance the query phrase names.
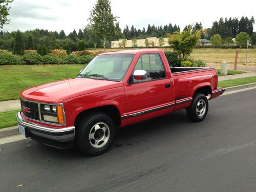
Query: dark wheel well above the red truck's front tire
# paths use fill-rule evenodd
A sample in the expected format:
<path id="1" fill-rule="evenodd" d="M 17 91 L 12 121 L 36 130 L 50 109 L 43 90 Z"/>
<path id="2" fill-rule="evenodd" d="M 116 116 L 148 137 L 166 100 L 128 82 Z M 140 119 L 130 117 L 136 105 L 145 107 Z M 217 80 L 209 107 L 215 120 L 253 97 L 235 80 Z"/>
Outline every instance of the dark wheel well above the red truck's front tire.
<path id="1" fill-rule="evenodd" d="M 77 126 L 77 124 L 80 122 L 80 120 L 82 118 L 84 118 L 84 116 L 86 116 L 89 113 L 94 113 L 94 112 L 100 112 L 100 113 L 104 113 L 106 115 L 109 115 L 113 119 L 114 123 L 117 126 L 121 124 L 120 114 L 119 114 L 119 111 L 116 108 L 116 106 L 114 106 L 114 105 L 105 105 L 105 106 L 99 106 L 97 108 L 92 108 L 92 109 L 89 109 L 89 110 L 85 110 L 85 111 L 79 113 L 76 116 L 75 126 Z"/>

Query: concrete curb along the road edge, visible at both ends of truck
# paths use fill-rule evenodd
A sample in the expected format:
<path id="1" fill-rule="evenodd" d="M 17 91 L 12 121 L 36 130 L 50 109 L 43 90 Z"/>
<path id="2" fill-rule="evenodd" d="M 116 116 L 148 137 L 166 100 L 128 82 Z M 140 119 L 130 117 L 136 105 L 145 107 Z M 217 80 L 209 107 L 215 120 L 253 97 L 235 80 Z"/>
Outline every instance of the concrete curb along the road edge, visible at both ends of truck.
<path id="1" fill-rule="evenodd" d="M 236 91 L 236 90 L 246 89 L 246 88 L 251 88 L 251 87 L 256 87 L 256 82 L 243 84 L 241 86 L 225 88 L 225 92 Z M 0 129 L 0 138 L 9 137 L 9 136 L 17 135 L 17 134 L 19 134 L 17 126 Z"/>

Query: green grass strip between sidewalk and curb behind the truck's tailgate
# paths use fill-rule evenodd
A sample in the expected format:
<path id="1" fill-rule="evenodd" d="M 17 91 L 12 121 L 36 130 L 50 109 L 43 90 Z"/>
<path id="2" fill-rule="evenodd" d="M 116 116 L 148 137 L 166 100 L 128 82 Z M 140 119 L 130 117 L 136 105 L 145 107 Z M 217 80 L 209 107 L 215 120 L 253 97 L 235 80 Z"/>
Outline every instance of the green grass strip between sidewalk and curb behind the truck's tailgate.
<path id="1" fill-rule="evenodd" d="M 256 82 L 256 77 L 244 77 L 239 79 L 229 79 L 218 82 L 218 87 L 228 88 L 232 86 L 240 86 L 241 84 L 247 84 Z"/>

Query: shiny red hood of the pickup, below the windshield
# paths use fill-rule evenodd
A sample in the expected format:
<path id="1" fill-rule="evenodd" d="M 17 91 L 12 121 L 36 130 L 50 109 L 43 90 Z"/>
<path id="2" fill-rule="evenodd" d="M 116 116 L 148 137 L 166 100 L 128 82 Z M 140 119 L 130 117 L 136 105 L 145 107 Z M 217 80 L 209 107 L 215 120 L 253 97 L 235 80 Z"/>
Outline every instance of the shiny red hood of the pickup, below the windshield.
<path id="1" fill-rule="evenodd" d="M 33 101 L 61 103 L 67 99 L 123 86 L 123 82 L 101 79 L 73 78 L 28 88 L 20 97 Z"/>

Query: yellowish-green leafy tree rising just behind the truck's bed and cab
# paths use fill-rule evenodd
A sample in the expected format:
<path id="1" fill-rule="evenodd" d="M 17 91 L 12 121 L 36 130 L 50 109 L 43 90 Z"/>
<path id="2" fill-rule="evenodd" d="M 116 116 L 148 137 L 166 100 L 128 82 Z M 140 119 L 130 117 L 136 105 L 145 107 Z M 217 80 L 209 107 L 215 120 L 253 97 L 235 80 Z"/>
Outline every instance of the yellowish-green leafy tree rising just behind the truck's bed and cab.
<path id="1" fill-rule="evenodd" d="M 174 34 L 167 34 L 169 45 L 173 45 L 174 51 L 179 53 L 179 56 L 189 55 L 197 46 L 198 39 L 201 36 L 202 29 L 191 33 L 192 26 L 187 31 L 176 31 Z"/>

